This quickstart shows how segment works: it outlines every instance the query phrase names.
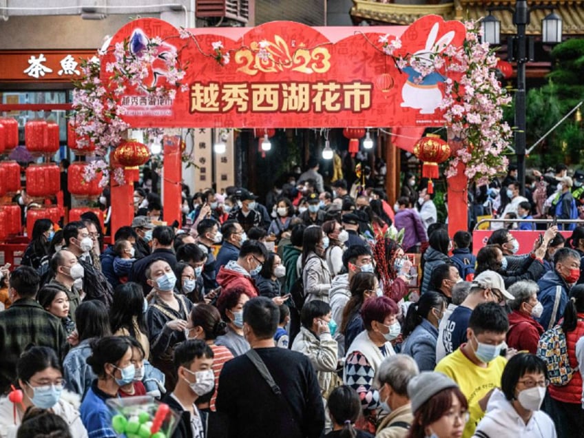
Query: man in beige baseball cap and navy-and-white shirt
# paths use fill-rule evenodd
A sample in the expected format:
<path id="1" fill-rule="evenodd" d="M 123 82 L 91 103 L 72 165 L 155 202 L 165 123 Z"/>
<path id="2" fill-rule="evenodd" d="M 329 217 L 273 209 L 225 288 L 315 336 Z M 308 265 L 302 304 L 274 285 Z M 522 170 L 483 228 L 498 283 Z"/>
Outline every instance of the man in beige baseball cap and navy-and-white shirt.
<path id="1" fill-rule="evenodd" d="M 444 328 L 442 339 L 438 340 L 444 344 L 446 354 L 452 353 L 467 341 L 468 320 L 476 306 L 483 302 L 496 302 L 503 305 L 505 300 L 512 299 L 513 295 L 505 289 L 505 282 L 503 282 L 501 275 L 495 271 L 483 271 L 477 275 L 470 284 L 470 291 L 466 299 L 448 317 L 448 324 Z"/>

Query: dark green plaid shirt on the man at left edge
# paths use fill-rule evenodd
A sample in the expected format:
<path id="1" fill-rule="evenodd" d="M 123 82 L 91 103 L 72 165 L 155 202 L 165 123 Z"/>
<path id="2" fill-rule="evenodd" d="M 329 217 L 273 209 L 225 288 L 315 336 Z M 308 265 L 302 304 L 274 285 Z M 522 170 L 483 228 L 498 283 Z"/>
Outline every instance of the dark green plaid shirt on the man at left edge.
<path id="1" fill-rule="evenodd" d="M 61 320 L 30 298 L 21 298 L 0 312 L 0 390 L 16 382 L 18 359 L 29 345 L 53 348 L 60 358 L 65 342 Z"/>

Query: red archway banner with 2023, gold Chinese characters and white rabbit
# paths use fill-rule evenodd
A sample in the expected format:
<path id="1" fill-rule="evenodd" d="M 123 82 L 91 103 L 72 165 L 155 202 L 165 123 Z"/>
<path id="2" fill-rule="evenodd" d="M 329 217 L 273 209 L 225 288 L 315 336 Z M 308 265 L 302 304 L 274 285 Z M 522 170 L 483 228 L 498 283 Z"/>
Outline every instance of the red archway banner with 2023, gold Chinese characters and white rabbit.
<path id="1" fill-rule="evenodd" d="M 431 62 L 432 50 L 458 47 L 466 36 L 459 21 L 434 15 L 408 27 L 310 28 L 280 21 L 190 32 L 183 39 L 185 32 L 165 21 L 139 19 L 112 39 L 102 56 L 105 81 L 115 45 L 125 40 L 132 47 L 161 39 L 148 85 L 165 81 L 165 53 L 178 53 L 187 66 L 187 90 L 172 99 L 127 87 L 119 105 L 133 127 L 441 126 L 446 76 L 415 79 L 419 74 L 410 65 L 398 68 L 384 53 L 384 41 L 399 39 L 397 56 L 417 54 Z"/>

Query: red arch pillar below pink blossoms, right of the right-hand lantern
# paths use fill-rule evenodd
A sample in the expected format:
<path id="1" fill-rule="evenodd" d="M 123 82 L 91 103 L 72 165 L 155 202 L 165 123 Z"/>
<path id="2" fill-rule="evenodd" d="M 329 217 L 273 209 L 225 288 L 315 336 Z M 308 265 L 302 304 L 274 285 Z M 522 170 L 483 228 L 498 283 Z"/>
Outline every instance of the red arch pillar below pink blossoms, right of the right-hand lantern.
<path id="1" fill-rule="evenodd" d="M 458 140 L 448 140 L 454 154 L 461 145 Z M 459 163 L 457 175 L 448 178 L 448 234 L 454 236 L 457 231 L 468 229 L 468 179 L 464 174 L 466 166 Z"/>

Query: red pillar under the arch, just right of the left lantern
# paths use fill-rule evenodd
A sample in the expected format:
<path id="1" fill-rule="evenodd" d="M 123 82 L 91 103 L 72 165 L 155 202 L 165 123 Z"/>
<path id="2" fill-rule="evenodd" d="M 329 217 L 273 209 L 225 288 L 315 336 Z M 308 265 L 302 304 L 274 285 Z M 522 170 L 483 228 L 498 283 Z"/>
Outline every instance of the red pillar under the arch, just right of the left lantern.
<path id="1" fill-rule="evenodd" d="M 165 135 L 163 167 L 163 208 L 164 220 L 170 225 L 175 220 L 181 222 L 183 165 L 180 151 L 180 135 Z"/>

